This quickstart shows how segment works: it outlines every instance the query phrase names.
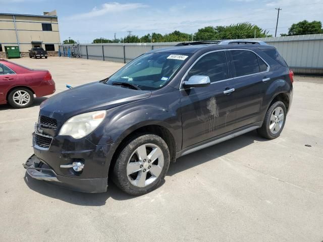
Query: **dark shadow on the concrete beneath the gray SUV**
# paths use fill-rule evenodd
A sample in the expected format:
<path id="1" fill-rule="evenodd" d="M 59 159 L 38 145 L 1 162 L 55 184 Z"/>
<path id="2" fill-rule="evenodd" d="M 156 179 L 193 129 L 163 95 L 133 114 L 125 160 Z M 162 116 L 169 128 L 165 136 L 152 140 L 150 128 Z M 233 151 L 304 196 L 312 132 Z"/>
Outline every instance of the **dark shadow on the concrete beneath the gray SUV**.
<path id="1" fill-rule="evenodd" d="M 177 159 L 175 163 L 171 163 L 167 175 L 172 176 L 194 166 L 203 164 L 204 162 L 220 162 L 220 159 L 217 159 L 218 157 L 235 150 L 239 150 L 254 143 L 254 141 L 266 141 L 266 139 L 260 138 L 256 132 L 250 132 L 223 143 L 196 151 Z M 115 200 L 128 200 L 135 198 L 134 196 L 130 196 L 122 192 L 112 183 L 112 181 L 109 181 L 109 187 L 106 193 L 89 194 L 60 188 L 46 183 L 45 181 L 33 179 L 27 174 L 24 177 L 24 180 L 27 186 L 37 193 L 80 206 L 102 206 L 105 204 L 106 200 L 110 198 Z M 164 183 L 165 180 L 160 186 L 163 186 Z"/>

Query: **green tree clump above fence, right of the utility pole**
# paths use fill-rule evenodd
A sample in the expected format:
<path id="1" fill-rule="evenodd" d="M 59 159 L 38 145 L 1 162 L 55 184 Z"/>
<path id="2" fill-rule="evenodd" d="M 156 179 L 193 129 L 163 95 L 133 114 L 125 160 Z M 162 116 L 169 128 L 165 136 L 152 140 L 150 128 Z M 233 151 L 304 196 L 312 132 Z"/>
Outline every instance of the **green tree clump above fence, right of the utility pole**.
<path id="1" fill-rule="evenodd" d="M 301 34 L 321 34 L 323 33 L 321 21 L 308 22 L 303 20 L 292 26 L 288 30 L 288 35 L 301 35 Z"/>

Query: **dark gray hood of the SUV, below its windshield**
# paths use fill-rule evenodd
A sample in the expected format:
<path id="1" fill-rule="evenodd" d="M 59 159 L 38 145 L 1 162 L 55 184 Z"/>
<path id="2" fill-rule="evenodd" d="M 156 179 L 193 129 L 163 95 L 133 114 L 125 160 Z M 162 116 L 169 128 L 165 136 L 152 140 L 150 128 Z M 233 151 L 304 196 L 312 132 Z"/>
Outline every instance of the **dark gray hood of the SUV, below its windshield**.
<path id="1" fill-rule="evenodd" d="M 58 93 L 40 105 L 40 115 L 66 120 L 79 113 L 113 108 L 151 95 L 151 91 L 93 82 Z"/>

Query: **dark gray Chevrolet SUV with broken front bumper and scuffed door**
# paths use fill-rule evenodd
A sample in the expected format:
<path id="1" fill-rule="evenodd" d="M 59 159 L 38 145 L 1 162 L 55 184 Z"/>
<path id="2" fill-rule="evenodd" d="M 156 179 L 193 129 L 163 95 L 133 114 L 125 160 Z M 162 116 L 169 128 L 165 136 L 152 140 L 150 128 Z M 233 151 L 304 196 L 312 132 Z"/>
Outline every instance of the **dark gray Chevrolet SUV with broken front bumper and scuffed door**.
<path id="1" fill-rule="evenodd" d="M 252 130 L 280 136 L 292 84 L 276 48 L 260 41 L 155 49 L 109 78 L 45 100 L 24 167 L 77 191 L 105 192 L 109 177 L 142 195 L 180 156 Z"/>

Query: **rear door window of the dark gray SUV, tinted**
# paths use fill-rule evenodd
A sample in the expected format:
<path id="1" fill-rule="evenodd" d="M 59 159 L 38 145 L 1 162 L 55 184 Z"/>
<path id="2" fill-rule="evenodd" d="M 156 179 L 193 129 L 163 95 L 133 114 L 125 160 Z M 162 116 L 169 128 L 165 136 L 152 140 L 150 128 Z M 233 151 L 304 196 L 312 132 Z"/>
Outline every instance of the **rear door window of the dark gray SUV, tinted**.
<path id="1" fill-rule="evenodd" d="M 259 73 L 257 55 L 248 50 L 231 50 L 237 77 Z"/>

